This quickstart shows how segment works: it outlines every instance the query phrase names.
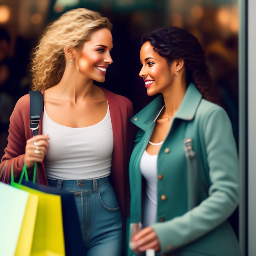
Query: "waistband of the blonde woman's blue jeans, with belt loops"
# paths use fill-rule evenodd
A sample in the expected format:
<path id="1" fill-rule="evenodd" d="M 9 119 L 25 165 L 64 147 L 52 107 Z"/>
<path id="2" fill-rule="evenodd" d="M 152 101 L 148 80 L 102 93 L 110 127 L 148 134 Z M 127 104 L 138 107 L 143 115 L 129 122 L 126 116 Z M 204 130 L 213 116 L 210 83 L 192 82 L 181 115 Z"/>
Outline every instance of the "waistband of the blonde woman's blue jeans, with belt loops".
<path id="1" fill-rule="evenodd" d="M 82 189 L 92 189 L 94 193 L 98 192 L 98 186 L 104 182 L 109 181 L 109 176 L 99 178 L 99 179 L 93 179 L 93 180 L 61 180 L 61 179 L 48 179 L 48 181 L 56 182 L 56 188 L 61 189 L 62 186 L 65 185 L 72 185 L 72 186 L 77 186 L 77 188 L 82 188 Z"/>

